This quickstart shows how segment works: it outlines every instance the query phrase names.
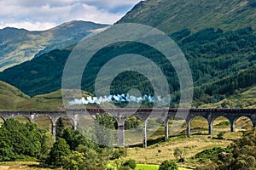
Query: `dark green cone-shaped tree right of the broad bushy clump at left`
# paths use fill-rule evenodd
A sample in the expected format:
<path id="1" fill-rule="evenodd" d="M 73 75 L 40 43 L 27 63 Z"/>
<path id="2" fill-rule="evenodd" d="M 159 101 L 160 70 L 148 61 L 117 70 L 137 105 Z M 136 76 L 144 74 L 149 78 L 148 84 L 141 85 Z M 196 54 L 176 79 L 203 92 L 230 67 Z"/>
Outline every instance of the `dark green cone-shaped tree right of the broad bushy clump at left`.
<path id="1" fill-rule="evenodd" d="M 70 154 L 69 145 L 67 144 L 65 139 L 57 139 L 52 149 L 49 152 L 49 158 L 47 163 L 55 166 L 61 166 L 61 156 L 67 156 Z"/>

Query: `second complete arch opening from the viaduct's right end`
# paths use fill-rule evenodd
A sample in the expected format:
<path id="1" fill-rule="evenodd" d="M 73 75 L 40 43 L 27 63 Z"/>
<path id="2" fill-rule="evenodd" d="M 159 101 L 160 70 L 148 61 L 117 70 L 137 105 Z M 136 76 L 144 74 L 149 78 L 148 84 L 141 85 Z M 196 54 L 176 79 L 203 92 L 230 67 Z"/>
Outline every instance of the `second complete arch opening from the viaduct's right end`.
<path id="1" fill-rule="evenodd" d="M 211 123 L 215 133 L 230 132 L 231 121 L 227 116 L 216 116 L 212 119 Z"/>

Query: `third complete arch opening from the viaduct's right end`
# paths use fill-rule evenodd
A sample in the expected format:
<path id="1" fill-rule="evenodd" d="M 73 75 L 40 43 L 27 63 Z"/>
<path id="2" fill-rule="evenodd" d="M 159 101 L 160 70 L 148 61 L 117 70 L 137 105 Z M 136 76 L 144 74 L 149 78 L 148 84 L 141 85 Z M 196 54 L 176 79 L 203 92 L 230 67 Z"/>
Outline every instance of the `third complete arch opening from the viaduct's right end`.
<path id="1" fill-rule="evenodd" d="M 194 116 L 189 120 L 190 133 L 207 134 L 209 131 L 209 122 L 205 116 Z"/>

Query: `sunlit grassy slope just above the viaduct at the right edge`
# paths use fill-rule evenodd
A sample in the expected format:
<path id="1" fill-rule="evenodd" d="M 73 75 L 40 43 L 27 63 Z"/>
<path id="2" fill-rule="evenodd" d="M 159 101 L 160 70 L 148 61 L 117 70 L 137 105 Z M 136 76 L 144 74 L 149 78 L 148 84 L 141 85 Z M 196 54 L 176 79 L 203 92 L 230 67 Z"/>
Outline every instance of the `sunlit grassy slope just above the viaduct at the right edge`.
<path id="1" fill-rule="evenodd" d="M 199 108 L 255 108 L 256 107 L 256 86 L 247 88 L 223 99 L 217 103 L 201 105 Z"/>

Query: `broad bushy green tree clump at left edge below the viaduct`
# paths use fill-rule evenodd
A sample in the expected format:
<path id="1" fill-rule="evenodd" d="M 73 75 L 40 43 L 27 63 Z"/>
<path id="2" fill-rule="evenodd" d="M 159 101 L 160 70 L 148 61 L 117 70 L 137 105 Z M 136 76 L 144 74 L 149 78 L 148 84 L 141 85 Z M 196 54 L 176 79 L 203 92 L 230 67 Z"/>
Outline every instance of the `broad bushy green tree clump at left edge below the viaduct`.
<path id="1" fill-rule="evenodd" d="M 24 155 L 38 157 L 41 151 L 42 133 L 32 122 L 23 124 L 8 119 L 0 127 L 0 160 L 15 160 Z"/>

